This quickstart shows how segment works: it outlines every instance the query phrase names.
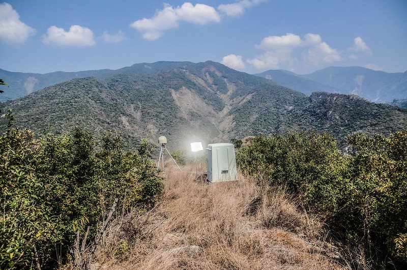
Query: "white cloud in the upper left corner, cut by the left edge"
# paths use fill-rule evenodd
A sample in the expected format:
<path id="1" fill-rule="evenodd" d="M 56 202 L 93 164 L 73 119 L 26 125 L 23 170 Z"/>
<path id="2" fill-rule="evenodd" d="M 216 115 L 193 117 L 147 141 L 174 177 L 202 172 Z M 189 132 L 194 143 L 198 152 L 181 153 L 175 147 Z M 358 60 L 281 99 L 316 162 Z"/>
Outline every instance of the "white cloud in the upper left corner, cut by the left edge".
<path id="1" fill-rule="evenodd" d="M 20 21 L 17 11 L 8 3 L 0 4 L 0 41 L 19 43 L 35 35 L 34 28 Z"/>

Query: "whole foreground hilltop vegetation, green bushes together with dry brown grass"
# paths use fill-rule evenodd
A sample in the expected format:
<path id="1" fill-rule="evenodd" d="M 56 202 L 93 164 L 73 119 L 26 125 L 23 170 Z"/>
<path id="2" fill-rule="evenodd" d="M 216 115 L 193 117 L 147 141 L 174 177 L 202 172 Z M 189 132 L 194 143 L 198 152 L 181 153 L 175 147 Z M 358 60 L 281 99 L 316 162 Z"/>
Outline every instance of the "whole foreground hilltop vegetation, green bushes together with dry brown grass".
<path id="1" fill-rule="evenodd" d="M 234 140 L 239 181 L 208 184 L 185 158 L 156 176 L 80 128 L 0 137 L 1 268 L 373 269 L 406 258 L 407 131 Z M 180 151 L 178 158 L 185 156 Z M 205 171 L 199 165 L 199 172 Z M 114 210 L 114 211 L 113 211 Z"/>

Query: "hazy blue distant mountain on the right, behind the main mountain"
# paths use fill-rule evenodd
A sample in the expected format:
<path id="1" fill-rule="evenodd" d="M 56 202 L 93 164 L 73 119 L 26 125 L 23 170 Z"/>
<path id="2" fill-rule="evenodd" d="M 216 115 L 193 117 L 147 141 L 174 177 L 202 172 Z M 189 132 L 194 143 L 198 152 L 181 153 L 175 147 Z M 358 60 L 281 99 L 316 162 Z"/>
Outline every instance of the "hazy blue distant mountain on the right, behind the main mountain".
<path id="1" fill-rule="evenodd" d="M 387 73 L 363 67 L 328 67 L 306 75 L 285 70 L 268 70 L 255 75 L 306 95 L 315 91 L 355 94 L 384 103 L 407 98 L 407 71 Z"/>

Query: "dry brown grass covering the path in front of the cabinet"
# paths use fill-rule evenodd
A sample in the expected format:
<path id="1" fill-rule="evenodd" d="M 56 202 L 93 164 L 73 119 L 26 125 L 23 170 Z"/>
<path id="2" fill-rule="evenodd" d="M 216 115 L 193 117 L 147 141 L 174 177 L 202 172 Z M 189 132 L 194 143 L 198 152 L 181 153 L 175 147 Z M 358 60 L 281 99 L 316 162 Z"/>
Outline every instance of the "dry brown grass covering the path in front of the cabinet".
<path id="1" fill-rule="evenodd" d="M 320 241 L 322 224 L 281 188 L 194 181 L 195 167 L 166 170 L 156 207 L 110 226 L 99 269 L 342 269 Z M 192 247 L 191 247 L 192 246 Z"/>

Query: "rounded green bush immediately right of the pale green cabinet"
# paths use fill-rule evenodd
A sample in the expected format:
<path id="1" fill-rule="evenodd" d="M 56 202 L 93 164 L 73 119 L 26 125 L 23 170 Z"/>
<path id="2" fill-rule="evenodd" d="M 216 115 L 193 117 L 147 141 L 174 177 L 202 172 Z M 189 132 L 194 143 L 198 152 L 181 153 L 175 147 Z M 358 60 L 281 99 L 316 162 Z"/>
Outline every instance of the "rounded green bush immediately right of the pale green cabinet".
<path id="1" fill-rule="evenodd" d="M 328 134 L 259 136 L 236 155 L 243 172 L 266 177 L 272 185 L 285 185 L 305 196 L 310 208 L 324 212 L 337 208 L 337 186 L 343 185 L 346 158 Z"/>

